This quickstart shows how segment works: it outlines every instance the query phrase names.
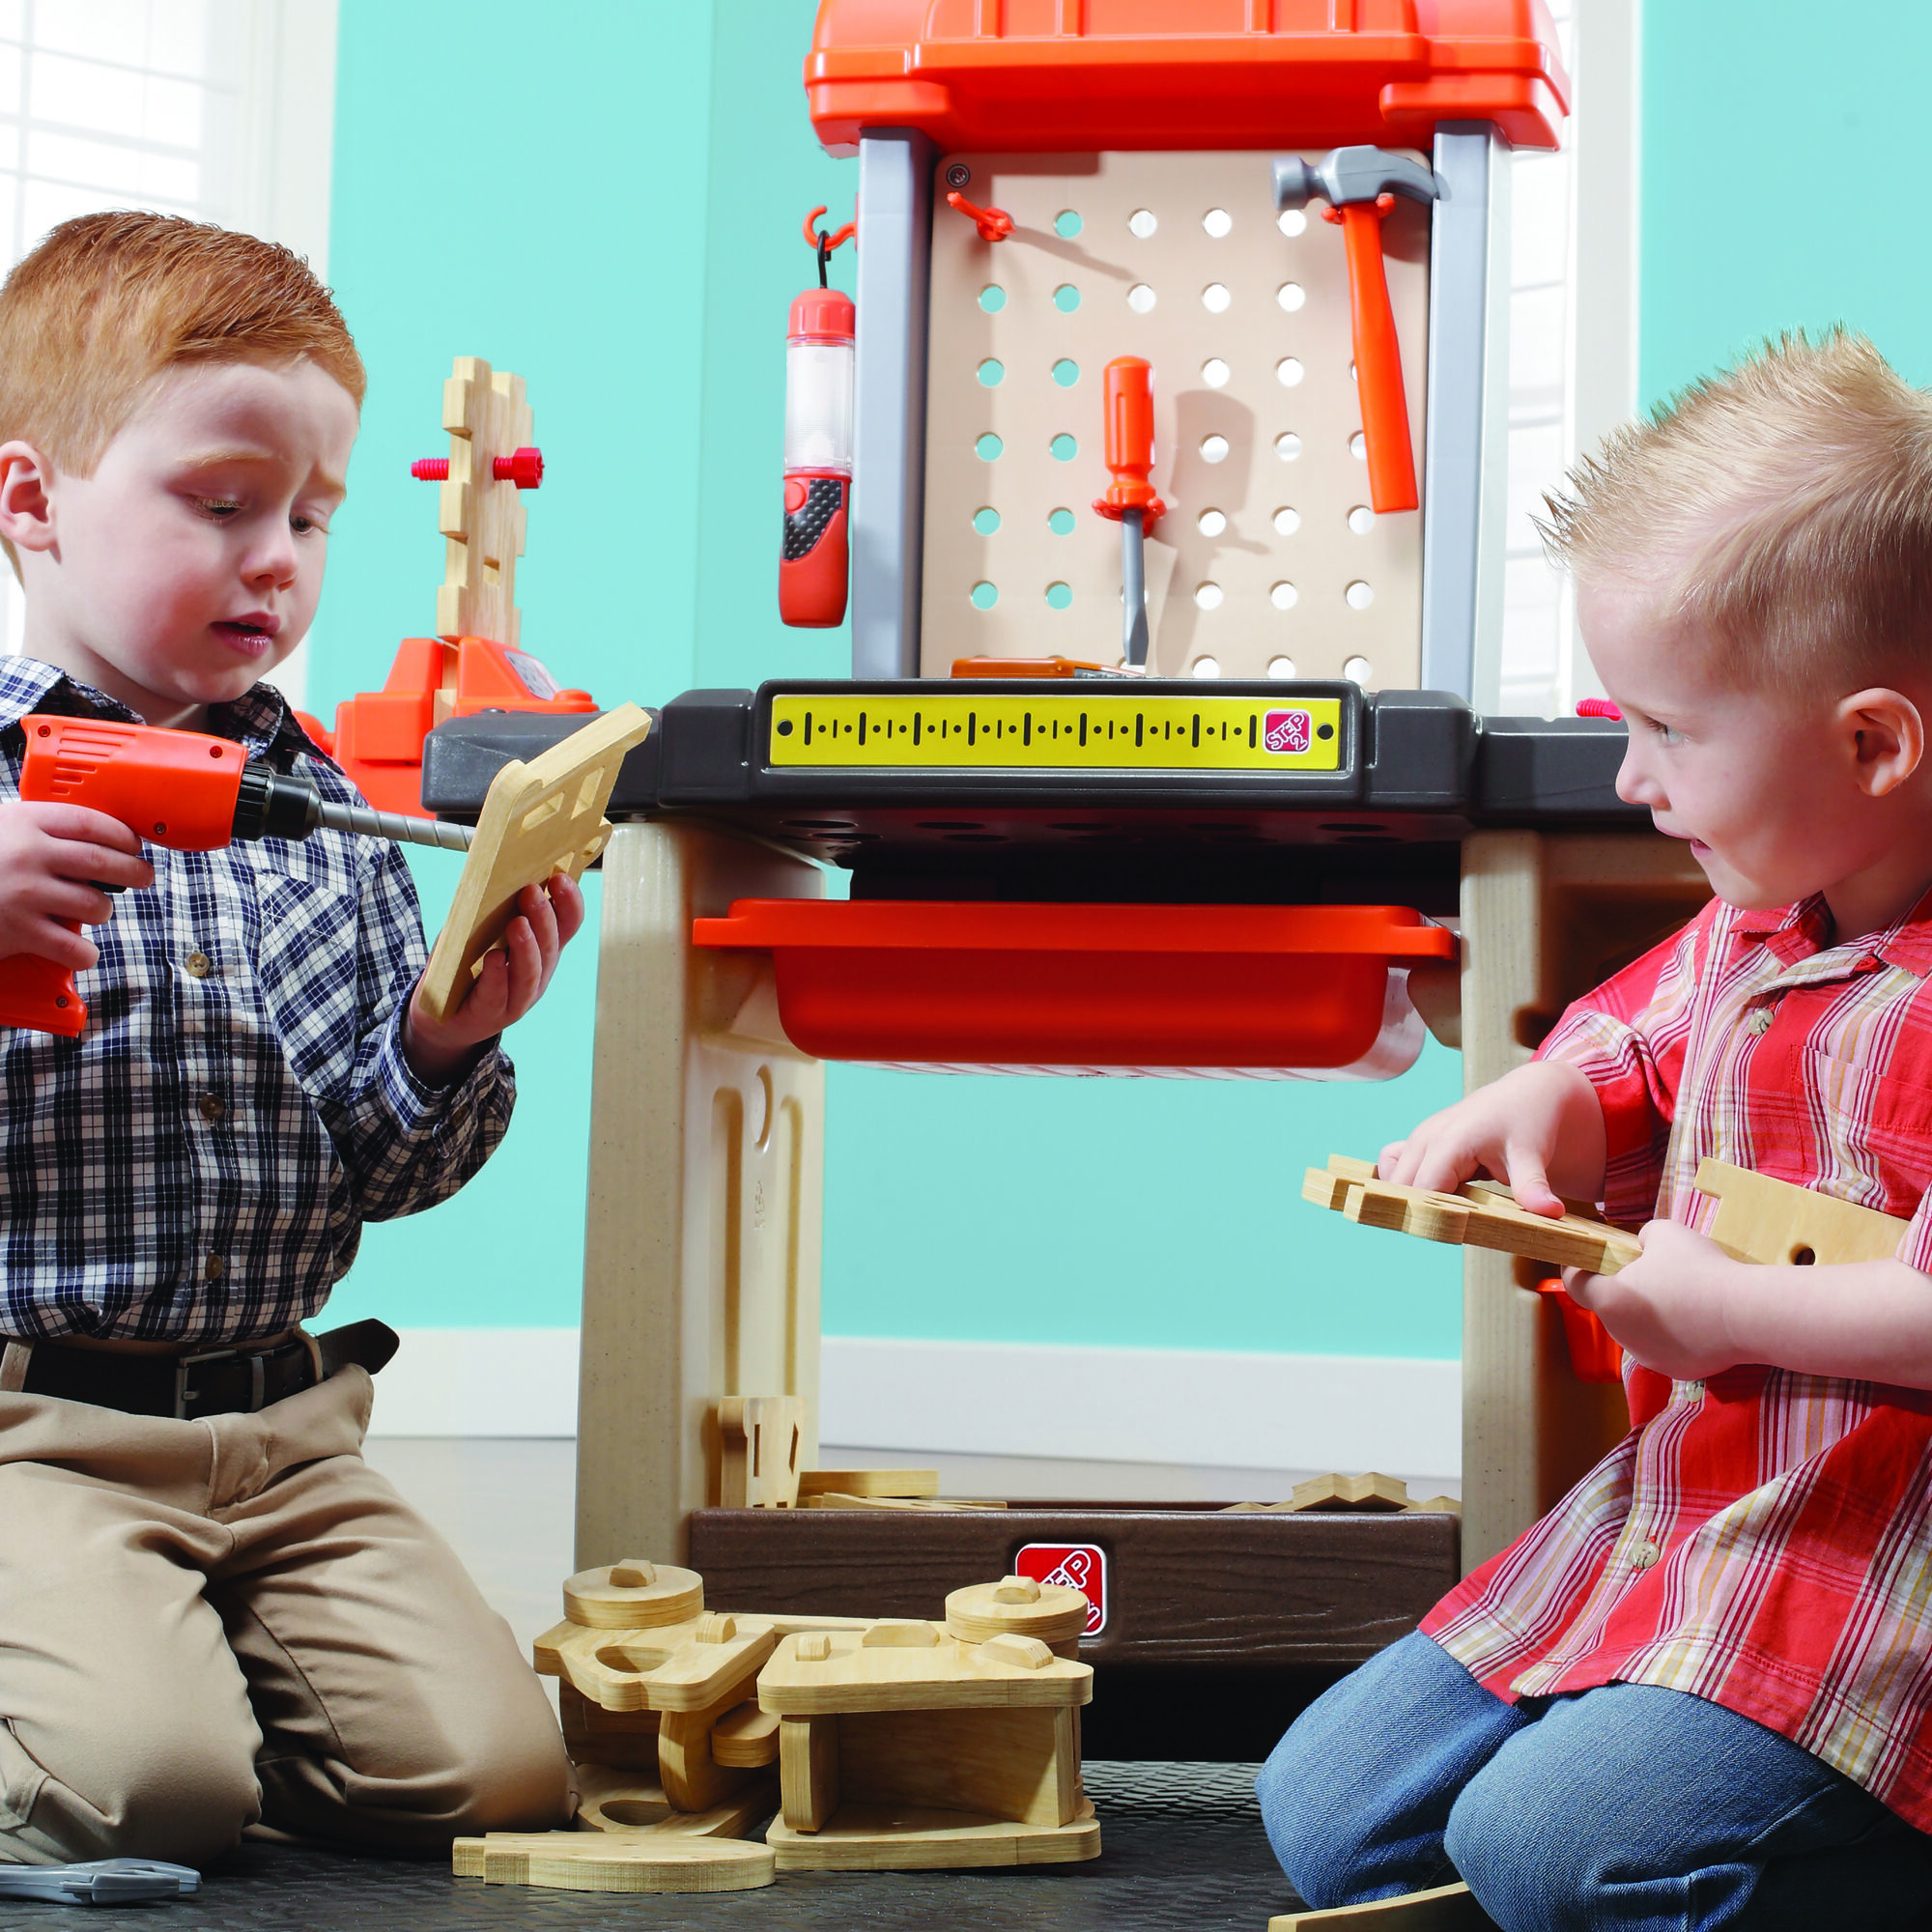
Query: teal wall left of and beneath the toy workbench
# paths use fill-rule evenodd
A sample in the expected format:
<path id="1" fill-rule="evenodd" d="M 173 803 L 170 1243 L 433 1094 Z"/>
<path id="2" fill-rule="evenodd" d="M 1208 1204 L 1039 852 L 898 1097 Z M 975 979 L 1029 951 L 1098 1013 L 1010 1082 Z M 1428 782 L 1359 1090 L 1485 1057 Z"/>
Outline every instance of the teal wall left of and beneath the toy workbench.
<path id="1" fill-rule="evenodd" d="M 605 701 L 837 676 L 846 638 L 775 611 L 782 330 L 806 209 L 850 216 L 798 85 L 808 0 L 342 0 L 330 280 L 369 363 L 311 703 L 381 684 L 442 578 L 450 357 L 529 379 L 547 475 L 524 643 Z M 452 50 L 514 48 L 500 114 Z M 454 70 L 468 71 L 464 64 Z M 481 68 L 479 68 L 481 71 Z M 850 286 L 850 249 L 838 276 Z M 417 867 L 431 925 L 454 862 Z M 595 918 L 595 881 L 591 881 Z M 336 1294 L 417 1325 L 576 1320 L 591 935 L 512 1036 L 502 1151 L 454 1202 L 371 1227 Z M 1457 1256 L 1306 1208 L 1300 1173 L 1455 1097 L 1430 1047 L 1387 1086 L 937 1078 L 835 1066 L 825 1327 L 846 1335 L 1455 1356 Z"/>

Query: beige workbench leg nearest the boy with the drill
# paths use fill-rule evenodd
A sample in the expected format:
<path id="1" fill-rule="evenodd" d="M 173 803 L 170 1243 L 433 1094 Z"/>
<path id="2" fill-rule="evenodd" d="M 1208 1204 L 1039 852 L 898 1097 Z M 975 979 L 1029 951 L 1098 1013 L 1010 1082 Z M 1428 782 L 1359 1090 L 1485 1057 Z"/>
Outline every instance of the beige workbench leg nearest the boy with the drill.
<path id="1" fill-rule="evenodd" d="M 699 952 L 734 898 L 821 898 L 804 860 L 688 823 L 620 825 L 597 954 L 576 1561 L 684 1561 L 724 1395 L 802 1395 L 817 1464 L 825 1070 L 769 964 Z"/>

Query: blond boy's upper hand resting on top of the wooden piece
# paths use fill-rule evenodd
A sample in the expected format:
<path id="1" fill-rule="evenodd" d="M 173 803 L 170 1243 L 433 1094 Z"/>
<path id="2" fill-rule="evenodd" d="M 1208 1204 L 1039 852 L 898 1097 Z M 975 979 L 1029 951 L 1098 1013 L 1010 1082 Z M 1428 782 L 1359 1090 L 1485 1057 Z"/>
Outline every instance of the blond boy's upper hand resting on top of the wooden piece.
<path id="1" fill-rule="evenodd" d="M 1406 1188 L 1459 1188 L 1488 1175 L 1530 1213 L 1557 1219 L 1559 1190 L 1573 1200 L 1604 1190 L 1604 1109 L 1575 1066 L 1532 1061 L 1391 1142 L 1378 1173 Z"/>

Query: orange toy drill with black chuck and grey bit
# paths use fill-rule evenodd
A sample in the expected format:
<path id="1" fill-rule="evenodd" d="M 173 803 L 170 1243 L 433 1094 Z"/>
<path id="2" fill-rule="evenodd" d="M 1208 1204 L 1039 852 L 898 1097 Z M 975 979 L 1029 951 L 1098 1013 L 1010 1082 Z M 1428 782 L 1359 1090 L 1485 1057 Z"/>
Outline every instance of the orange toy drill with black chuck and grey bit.
<path id="1" fill-rule="evenodd" d="M 214 852 L 234 838 L 307 838 L 323 825 L 371 838 L 398 838 L 466 852 L 464 825 L 340 806 L 307 779 L 249 765 L 230 738 L 102 719 L 29 717 L 19 796 L 87 806 L 172 852 Z M 79 931 L 79 927 L 75 927 Z M 87 1005 L 66 966 L 37 952 L 0 958 L 0 1026 L 75 1037 Z"/>

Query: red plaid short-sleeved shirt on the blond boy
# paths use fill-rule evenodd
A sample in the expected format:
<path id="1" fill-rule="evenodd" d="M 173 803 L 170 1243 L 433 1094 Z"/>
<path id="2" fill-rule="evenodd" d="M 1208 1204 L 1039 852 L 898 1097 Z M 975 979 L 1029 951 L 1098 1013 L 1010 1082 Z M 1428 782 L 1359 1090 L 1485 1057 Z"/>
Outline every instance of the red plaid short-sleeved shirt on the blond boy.
<path id="1" fill-rule="evenodd" d="M 1832 945 L 1820 898 L 1714 900 L 1542 1059 L 1609 1130 L 1605 1211 L 1708 1227 L 1698 1161 L 1911 1221 L 1932 1273 L 1932 895 Z M 1631 1434 L 1422 1629 L 1503 1698 L 1663 1685 L 1768 1725 L 1932 1830 L 1932 1393 L 1625 1366 Z"/>

